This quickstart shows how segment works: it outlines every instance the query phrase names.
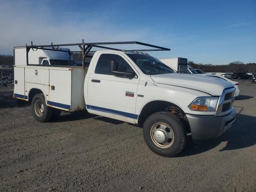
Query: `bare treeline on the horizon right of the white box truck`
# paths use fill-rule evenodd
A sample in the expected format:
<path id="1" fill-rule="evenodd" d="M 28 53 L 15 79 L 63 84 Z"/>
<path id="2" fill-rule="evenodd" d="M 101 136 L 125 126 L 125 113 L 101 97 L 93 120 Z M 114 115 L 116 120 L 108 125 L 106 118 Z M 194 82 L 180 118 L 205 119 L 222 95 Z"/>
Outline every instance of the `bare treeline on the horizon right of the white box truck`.
<path id="1" fill-rule="evenodd" d="M 188 65 L 191 65 L 195 69 L 201 69 L 205 72 L 256 72 L 256 63 L 244 64 L 240 61 L 231 62 L 228 65 L 196 64 L 192 61 L 189 61 Z"/>

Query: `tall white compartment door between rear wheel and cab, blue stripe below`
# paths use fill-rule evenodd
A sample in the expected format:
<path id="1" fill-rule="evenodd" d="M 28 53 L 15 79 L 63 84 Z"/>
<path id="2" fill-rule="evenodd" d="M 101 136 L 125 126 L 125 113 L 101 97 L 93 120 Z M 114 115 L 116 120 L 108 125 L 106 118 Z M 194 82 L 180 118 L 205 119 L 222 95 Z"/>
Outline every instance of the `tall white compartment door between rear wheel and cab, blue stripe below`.
<path id="1" fill-rule="evenodd" d="M 71 83 L 72 70 L 50 69 L 50 90 L 47 104 L 56 108 L 70 110 Z"/>

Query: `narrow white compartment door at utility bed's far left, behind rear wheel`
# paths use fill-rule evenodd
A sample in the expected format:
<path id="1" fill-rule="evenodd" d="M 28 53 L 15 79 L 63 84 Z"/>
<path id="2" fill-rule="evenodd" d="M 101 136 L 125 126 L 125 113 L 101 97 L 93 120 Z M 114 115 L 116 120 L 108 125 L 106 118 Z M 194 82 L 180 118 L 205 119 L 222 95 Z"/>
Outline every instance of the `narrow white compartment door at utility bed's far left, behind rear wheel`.
<path id="1" fill-rule="evenodd" d="M 24 67 L 14 67 L 14 96 L 27 99 L 25 96 Z"/>

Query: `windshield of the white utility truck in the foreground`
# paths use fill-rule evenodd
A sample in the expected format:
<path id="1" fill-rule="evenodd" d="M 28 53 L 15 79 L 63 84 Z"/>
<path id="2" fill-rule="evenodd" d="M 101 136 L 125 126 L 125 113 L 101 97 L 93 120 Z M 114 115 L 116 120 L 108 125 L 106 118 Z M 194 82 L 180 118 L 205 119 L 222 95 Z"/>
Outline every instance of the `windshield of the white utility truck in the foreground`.
<path id="1" fill-rule="evenodd" d="M 142 70 L 144 74 L 156 75 L 156 74 L 166 74 L 175 73 L 174 70 L 169 68 L 167 65 L 162 63 L 157 58 L 149 55 L 142 54 L 127 54 L 134 63 Z"/>

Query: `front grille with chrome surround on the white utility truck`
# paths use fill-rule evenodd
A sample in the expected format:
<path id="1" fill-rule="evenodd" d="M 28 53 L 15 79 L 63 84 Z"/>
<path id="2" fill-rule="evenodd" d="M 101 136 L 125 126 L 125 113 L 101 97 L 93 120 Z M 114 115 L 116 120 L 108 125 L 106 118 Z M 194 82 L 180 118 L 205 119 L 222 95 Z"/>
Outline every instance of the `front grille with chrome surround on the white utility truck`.
<path id="1" fill-rule="evenodd" d="M 235 88 L 225 89 L 220 96 L 216 116 L 229 114 L 233 109 Z"/>

